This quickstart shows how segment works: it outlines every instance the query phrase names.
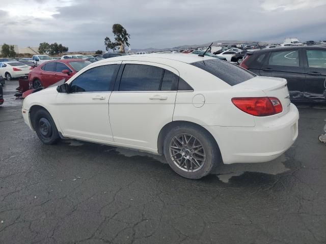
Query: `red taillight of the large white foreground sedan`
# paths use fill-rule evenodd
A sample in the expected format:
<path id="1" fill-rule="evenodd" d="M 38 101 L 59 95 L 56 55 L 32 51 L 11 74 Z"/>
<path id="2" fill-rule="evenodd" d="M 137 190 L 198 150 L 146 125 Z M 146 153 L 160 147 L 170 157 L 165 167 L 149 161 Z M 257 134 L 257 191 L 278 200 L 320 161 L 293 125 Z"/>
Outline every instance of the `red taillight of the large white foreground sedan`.
<path id="1" fill-rule="evenodd" d="M 283 111 L 277 98 L 232 98 L 232 103 L 243 112 L 254 116 L 269 116 Z"/>

